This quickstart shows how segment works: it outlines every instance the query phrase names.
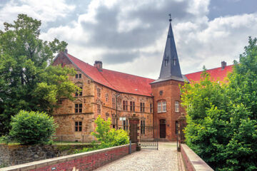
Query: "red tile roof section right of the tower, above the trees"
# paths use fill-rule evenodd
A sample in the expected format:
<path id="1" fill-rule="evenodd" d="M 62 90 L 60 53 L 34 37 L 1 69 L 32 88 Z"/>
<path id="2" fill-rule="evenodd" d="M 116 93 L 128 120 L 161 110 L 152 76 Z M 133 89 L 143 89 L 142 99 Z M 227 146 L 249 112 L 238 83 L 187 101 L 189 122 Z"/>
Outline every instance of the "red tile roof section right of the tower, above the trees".
<path id="1" fill-rule="evenodd" d="M 228 76 L 228 73 L 231 73 L 232 71 L 233 65 L 226 66 L 224 69 L 222 69 L 221 67 L 209 69 L 207 70 L 207 73 L 210 73 L 211 78 L 213 78 L 214 81 L 224 81 L 224 78 L 226 78 L 226 76 Z M 188 73 L 186 74 L 186 78 L 188 78 L 189 81 L 200 81 L 201 73 L 203 73 L 203 71 Z"/>

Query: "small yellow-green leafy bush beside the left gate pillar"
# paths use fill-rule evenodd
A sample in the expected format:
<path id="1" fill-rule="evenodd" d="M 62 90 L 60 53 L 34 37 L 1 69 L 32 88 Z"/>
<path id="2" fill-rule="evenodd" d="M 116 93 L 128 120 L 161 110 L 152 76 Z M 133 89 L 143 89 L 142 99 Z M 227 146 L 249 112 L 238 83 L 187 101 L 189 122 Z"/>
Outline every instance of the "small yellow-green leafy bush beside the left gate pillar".
<path id="1" fill-rule="evenodd" d="M 129 134 L 126 130 L 115 130 L 111 128 L 111 119 L 104 120 L 101 115 L 95 120 L 96 132 L 91 133 L 104 147 L 112 147 L 116 145 L 125 145 L 129 143 Z"/>

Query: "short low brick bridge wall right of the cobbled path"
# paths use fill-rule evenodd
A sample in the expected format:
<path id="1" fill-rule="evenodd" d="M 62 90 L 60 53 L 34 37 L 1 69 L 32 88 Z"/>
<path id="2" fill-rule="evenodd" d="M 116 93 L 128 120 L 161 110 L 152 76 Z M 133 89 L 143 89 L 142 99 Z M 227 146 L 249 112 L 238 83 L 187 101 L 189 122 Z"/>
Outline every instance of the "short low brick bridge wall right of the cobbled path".
<path id="1" fill-rule="evenodd" d="M 181 155 L 184 165 L 188 171 L 213 171 L 213 169 L 204 162 L 201 157 L 196 155 L 191 148 L 185 144 L 181 144 Z"/>

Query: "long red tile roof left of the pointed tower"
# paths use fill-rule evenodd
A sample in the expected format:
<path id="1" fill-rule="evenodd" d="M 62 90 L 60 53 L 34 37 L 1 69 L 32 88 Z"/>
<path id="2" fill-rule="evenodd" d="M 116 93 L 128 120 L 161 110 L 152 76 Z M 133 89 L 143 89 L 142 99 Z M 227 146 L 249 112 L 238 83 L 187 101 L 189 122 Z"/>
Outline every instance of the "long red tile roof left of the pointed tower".
<path id="1" fill-rule="evenodd" d="M 102 71 L 99 71 L 96 67 L 91 66 L 89 63 L 85 63 L 70 54 L 67 54 L 67 56 L 81 69 L 81 71 L 101 85 L 121 93 L 151 96 L 150 83 L 154 81 L 153 79 L 133 76 L 131 74 L 120 73 L 104 68 Z"/>

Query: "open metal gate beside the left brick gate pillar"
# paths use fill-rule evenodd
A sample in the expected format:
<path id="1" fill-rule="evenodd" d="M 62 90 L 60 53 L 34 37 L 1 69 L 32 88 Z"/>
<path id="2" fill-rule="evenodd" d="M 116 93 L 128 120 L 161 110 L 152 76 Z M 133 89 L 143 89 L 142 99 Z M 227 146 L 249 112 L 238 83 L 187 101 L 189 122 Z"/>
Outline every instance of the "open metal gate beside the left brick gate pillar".
<path id="1" fill-rule="evenodd" d="M 153 126 L 146 126 L 141 124 L 139 145 L 142 149 L 158 150 L 158 140 L 153 137 Z"/>

